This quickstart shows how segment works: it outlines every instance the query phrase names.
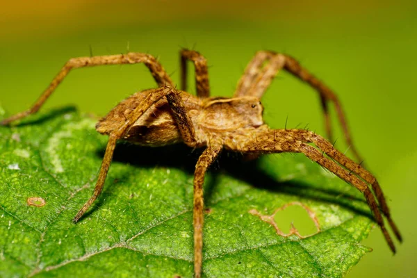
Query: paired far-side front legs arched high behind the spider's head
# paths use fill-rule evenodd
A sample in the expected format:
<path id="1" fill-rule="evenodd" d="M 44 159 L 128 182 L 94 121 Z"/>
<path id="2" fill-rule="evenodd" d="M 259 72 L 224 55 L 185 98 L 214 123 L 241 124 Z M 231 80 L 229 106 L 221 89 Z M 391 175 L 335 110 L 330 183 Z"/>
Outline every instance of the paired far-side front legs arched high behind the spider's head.
<path id="1" fill-rule="evenodd" d="M 325 129 L 327 138 L 332 141 L 332 123 L 329 116 L 329 101 L 334 104 L 338 120 L 342 126 L 343 134 L 347 145 L 350 146 L 352 152 L 357 161 L 363 161 L 359 152 L 352 142 L 350 136 L 350 130 L 347 127 L 345 113 L 341 107 L 340 101 L 336 97 L 336 94 L 327 85 L 318 80 L 316 76 L 313 76 L 308 70 L 300 65 L 295 58 L 285 55 L 277 54 L 274 51 L 258 51 L 256 52 L 252 61 L 247 65 L 245 73 L 240 78 L 235 97 L 243 95 L 253 95 L 261 98 L 265 93 L 265 90 L 269 87 L 272 79 L 278 74 L 279 70 L 284 69 L 293 76 L 301 79 L 316 89 L 320 95 L 322 109 L 325 117 Z"/>

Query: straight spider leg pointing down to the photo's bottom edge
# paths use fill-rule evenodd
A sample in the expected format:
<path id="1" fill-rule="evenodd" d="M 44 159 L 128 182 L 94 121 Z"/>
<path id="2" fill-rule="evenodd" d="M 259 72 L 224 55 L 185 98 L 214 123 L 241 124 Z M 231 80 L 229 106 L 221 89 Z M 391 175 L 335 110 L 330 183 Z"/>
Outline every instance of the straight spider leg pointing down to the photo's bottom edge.
<path id="1" fill-rule="evenodd" d="M 199 278 L 202 275 L 203 262 L 203 183 L 204 176 L 208 167 L 215 161 L 222 150 L 221 145 L 211 145 L 198 158 L 194 172 L 194 208 L 193 208 L 193 224 L 194 224 L 194 277 Z"/>

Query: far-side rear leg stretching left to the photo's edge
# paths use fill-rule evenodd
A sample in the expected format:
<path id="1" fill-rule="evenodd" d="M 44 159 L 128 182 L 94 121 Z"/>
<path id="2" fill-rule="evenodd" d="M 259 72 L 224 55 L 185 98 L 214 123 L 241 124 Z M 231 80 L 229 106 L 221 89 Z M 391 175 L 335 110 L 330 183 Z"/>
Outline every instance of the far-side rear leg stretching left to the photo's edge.
<path id="1" fill-rule="evenodd" d="M 97 65 L 121 65 L 136 63 L 144 63 L 148 67 L 159 87 L 165 85 L 173 86 L 170 76 L 168 76 L 168 74 L 165 72 L 161 64 L 159 64 L 158 61 L 154 58 L 154 56 L 149 54 L 128 53 L 120 55 L 72 58 L 68 60 L 67 63 L 65 63 L 64 67 L 60 70 L 60 72 L 58 72 L 58 74 L 52 80 L 51 84 L 46 90 L 44 90 L 42 95 L 40 95 L 39 99 L 35 102 L 35 104 L 33 104 L 31 108 L 8 117 L 6 120 L 1 121 L 0 124 L 10 124 L 10 122 L 22 119 L 23 117 L 38 112 L 44 102 L 49 98 L 52 92 L 54 92 L 56 87 L 58 87 L 58 85 L 63 81 L 65 76 L 67 76 L 67 74 L 69 74 L 72 69 L 79 67 L 94 67 Z"/>

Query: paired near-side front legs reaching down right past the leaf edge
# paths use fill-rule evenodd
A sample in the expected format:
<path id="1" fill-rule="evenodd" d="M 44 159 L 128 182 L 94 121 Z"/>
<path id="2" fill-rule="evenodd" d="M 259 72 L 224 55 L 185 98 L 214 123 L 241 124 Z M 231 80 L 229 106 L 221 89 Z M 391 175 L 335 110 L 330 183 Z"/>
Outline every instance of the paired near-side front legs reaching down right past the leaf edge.
<path id="1" fill-rule="evenodd" d="M 309 145 L 311 142 L 313 142 L 317 148 Z M 382 230 L 386 242 L 395 253 L 393 240 L 386 230 L 378 204 L 367 184 L 370 183 L 371 186 L 373 186 L 373 190 L 377 196 L 382 213 L 384 213 L 386 218 L 389 220 L 389 224 L 391 225 L 395 236 L 401 241 L 402 237 L 400 235 L 400 231 L 391 219 L 391 214 L 379 183 L 375 177 L 370 174 L 370 172 L 361 167 L 361 165 L 354 163 L 354 161 L 347 158 L 347 156 L 341 152 L 338 152 L 334 149 L 332 144 L 321 136 L 318 136 L 311 131 L 300 129 L 279 129 L 266 131 L 257 134 L 256 140 L 249 140 L 245 142 L 245 144 L 240 146 L 239 149 L 236 149 L 236 151 L 247 153 L 301 152 L 312 161 L 315 161 L 330 172 L 333 172 L 337 177 L 343 179 L 347 183 L 350 183 L 352 186 L 360 190 L 363 195 L 365 195 L 366 202 L 373 212 L 375 220 Z M 329 157 L 324 156 L 324 154 L 327 154 Z"/>

